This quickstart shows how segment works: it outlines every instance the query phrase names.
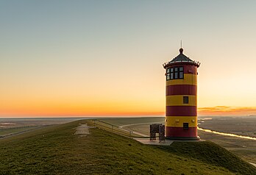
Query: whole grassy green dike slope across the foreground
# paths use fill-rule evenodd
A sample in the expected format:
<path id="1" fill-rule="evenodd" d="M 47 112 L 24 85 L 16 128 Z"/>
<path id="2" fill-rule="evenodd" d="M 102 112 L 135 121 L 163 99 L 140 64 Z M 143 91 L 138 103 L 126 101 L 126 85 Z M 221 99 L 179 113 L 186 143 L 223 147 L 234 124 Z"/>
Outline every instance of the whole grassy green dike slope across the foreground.
<path id="1" fill-rule="evenodd" d="M 149 146 L 74 121 L 0 140 L 0 174 L 256 174 L 256 168 L 210 142 Z"/>

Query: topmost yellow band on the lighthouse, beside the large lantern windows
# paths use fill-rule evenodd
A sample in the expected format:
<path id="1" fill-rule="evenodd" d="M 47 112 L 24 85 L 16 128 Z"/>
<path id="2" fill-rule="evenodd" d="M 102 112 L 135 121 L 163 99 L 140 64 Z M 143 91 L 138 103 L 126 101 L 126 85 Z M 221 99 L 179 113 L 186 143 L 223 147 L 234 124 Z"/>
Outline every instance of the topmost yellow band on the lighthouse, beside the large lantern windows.
<path id="1" fill-rule="evenodd" d="M 171 79 L 166 81 L 168 85 L 197 85 L 196 74 L 184 74 L 184 79 Z"/>

